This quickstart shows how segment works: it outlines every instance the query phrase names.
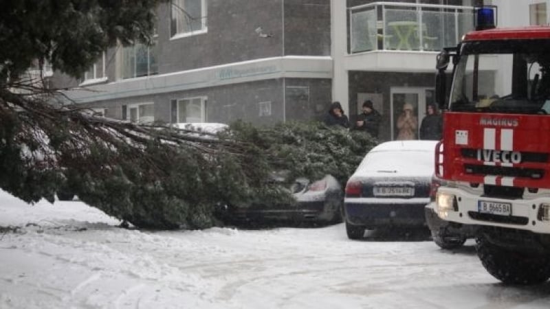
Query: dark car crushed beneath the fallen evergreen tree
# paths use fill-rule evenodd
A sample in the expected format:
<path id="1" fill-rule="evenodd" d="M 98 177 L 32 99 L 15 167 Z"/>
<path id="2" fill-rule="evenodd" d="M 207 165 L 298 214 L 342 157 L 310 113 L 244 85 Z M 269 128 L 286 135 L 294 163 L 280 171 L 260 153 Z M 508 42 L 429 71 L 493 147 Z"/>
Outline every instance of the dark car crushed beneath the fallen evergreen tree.
<path id="1" fill-rule="evenodd" d="M 294 205 L 272 205 L 269 201 L 250 207 L 228 206 L 226 217 L 232 222 L 263 225 L 272 221 L 330 224 L 342 220 L 342 186 L 331 175 L 318 181 L 299 178 L 289 186 Z"/>

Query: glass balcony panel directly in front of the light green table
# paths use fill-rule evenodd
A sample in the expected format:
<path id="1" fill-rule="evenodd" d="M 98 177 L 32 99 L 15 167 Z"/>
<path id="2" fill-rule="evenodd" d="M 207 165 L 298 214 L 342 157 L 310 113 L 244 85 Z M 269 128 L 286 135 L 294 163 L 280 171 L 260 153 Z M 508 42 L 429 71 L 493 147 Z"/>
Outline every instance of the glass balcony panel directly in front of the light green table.
<path id="1" fill-rule="evenodd" d="M 419 50 L 418 11 L 411 9 L 384 10 L 384 48 L 401 50 Z M 415 33 L 416 32 L 416 33 Z"/>

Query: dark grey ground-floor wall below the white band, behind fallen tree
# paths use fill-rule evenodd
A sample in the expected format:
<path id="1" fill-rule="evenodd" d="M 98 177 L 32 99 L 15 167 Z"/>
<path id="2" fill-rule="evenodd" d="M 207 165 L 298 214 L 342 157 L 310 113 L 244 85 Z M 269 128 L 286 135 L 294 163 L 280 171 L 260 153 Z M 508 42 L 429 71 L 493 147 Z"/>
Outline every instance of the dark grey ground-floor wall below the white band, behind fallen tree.
<path id="1" fill-rule="evenodd" d="M 286 85 L 287 95 L 283 95 Z M 306 91 L 303 91 L 307 89 Z M 298 90 L 298 91 L 297 91 Z M 307 93 L 307 95 L 297 95 Z M 170 100 L 205 96 L 206 122 L 230 123 L 245 119 L 254 124 L 275 124 L 287 120 L 321 119 L 331 99 L 331 80 L 327 79 L 274 79 L 244 82 L 177 91 L 140 95 L 133 98 L 98 101 L 87 106 L 108 108 L 107 116 L 120 119 L 122 105 L 154 103 L 155 120 L 170 122 Z M 261 112 L 261 106 L 269 106 L 269 113 Z"/>

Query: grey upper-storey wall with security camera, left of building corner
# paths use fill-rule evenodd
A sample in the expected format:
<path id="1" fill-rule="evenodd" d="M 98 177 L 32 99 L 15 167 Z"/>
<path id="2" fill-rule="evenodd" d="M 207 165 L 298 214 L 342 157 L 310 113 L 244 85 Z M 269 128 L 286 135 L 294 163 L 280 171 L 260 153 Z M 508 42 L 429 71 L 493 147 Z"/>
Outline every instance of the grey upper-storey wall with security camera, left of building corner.
<path id="1" fill-rule="evenodd" d="M 209 0 L 208 32 L 170 39 L 170 3 L 159 7 L 159 73 L 283 55 L 282 0 Z M 262 27 L 262 38 L 254 30 Z"/>

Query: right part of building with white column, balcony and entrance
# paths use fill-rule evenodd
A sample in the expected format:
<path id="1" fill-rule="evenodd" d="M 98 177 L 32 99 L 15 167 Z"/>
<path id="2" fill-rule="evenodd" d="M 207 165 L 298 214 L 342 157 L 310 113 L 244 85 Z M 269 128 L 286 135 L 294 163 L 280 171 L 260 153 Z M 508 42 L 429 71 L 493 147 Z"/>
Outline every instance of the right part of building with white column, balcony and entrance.
<path id="1" fill-rule="evenodd" d="M 397 119 L 411 104 L 420 123 L 434 103 L 437 53 L 474 29 L 482 1 L 333 1 L 333 90 L 347 98 L 351 119 L 371 100 L 382 113 L 380 138 L 395 139 Z M 342 99 L 343 100 L 343 99 Z M 419 126 L 419 125 L 418 125 Z M 417 135 L 418 136 L 418 135 Z"/>

